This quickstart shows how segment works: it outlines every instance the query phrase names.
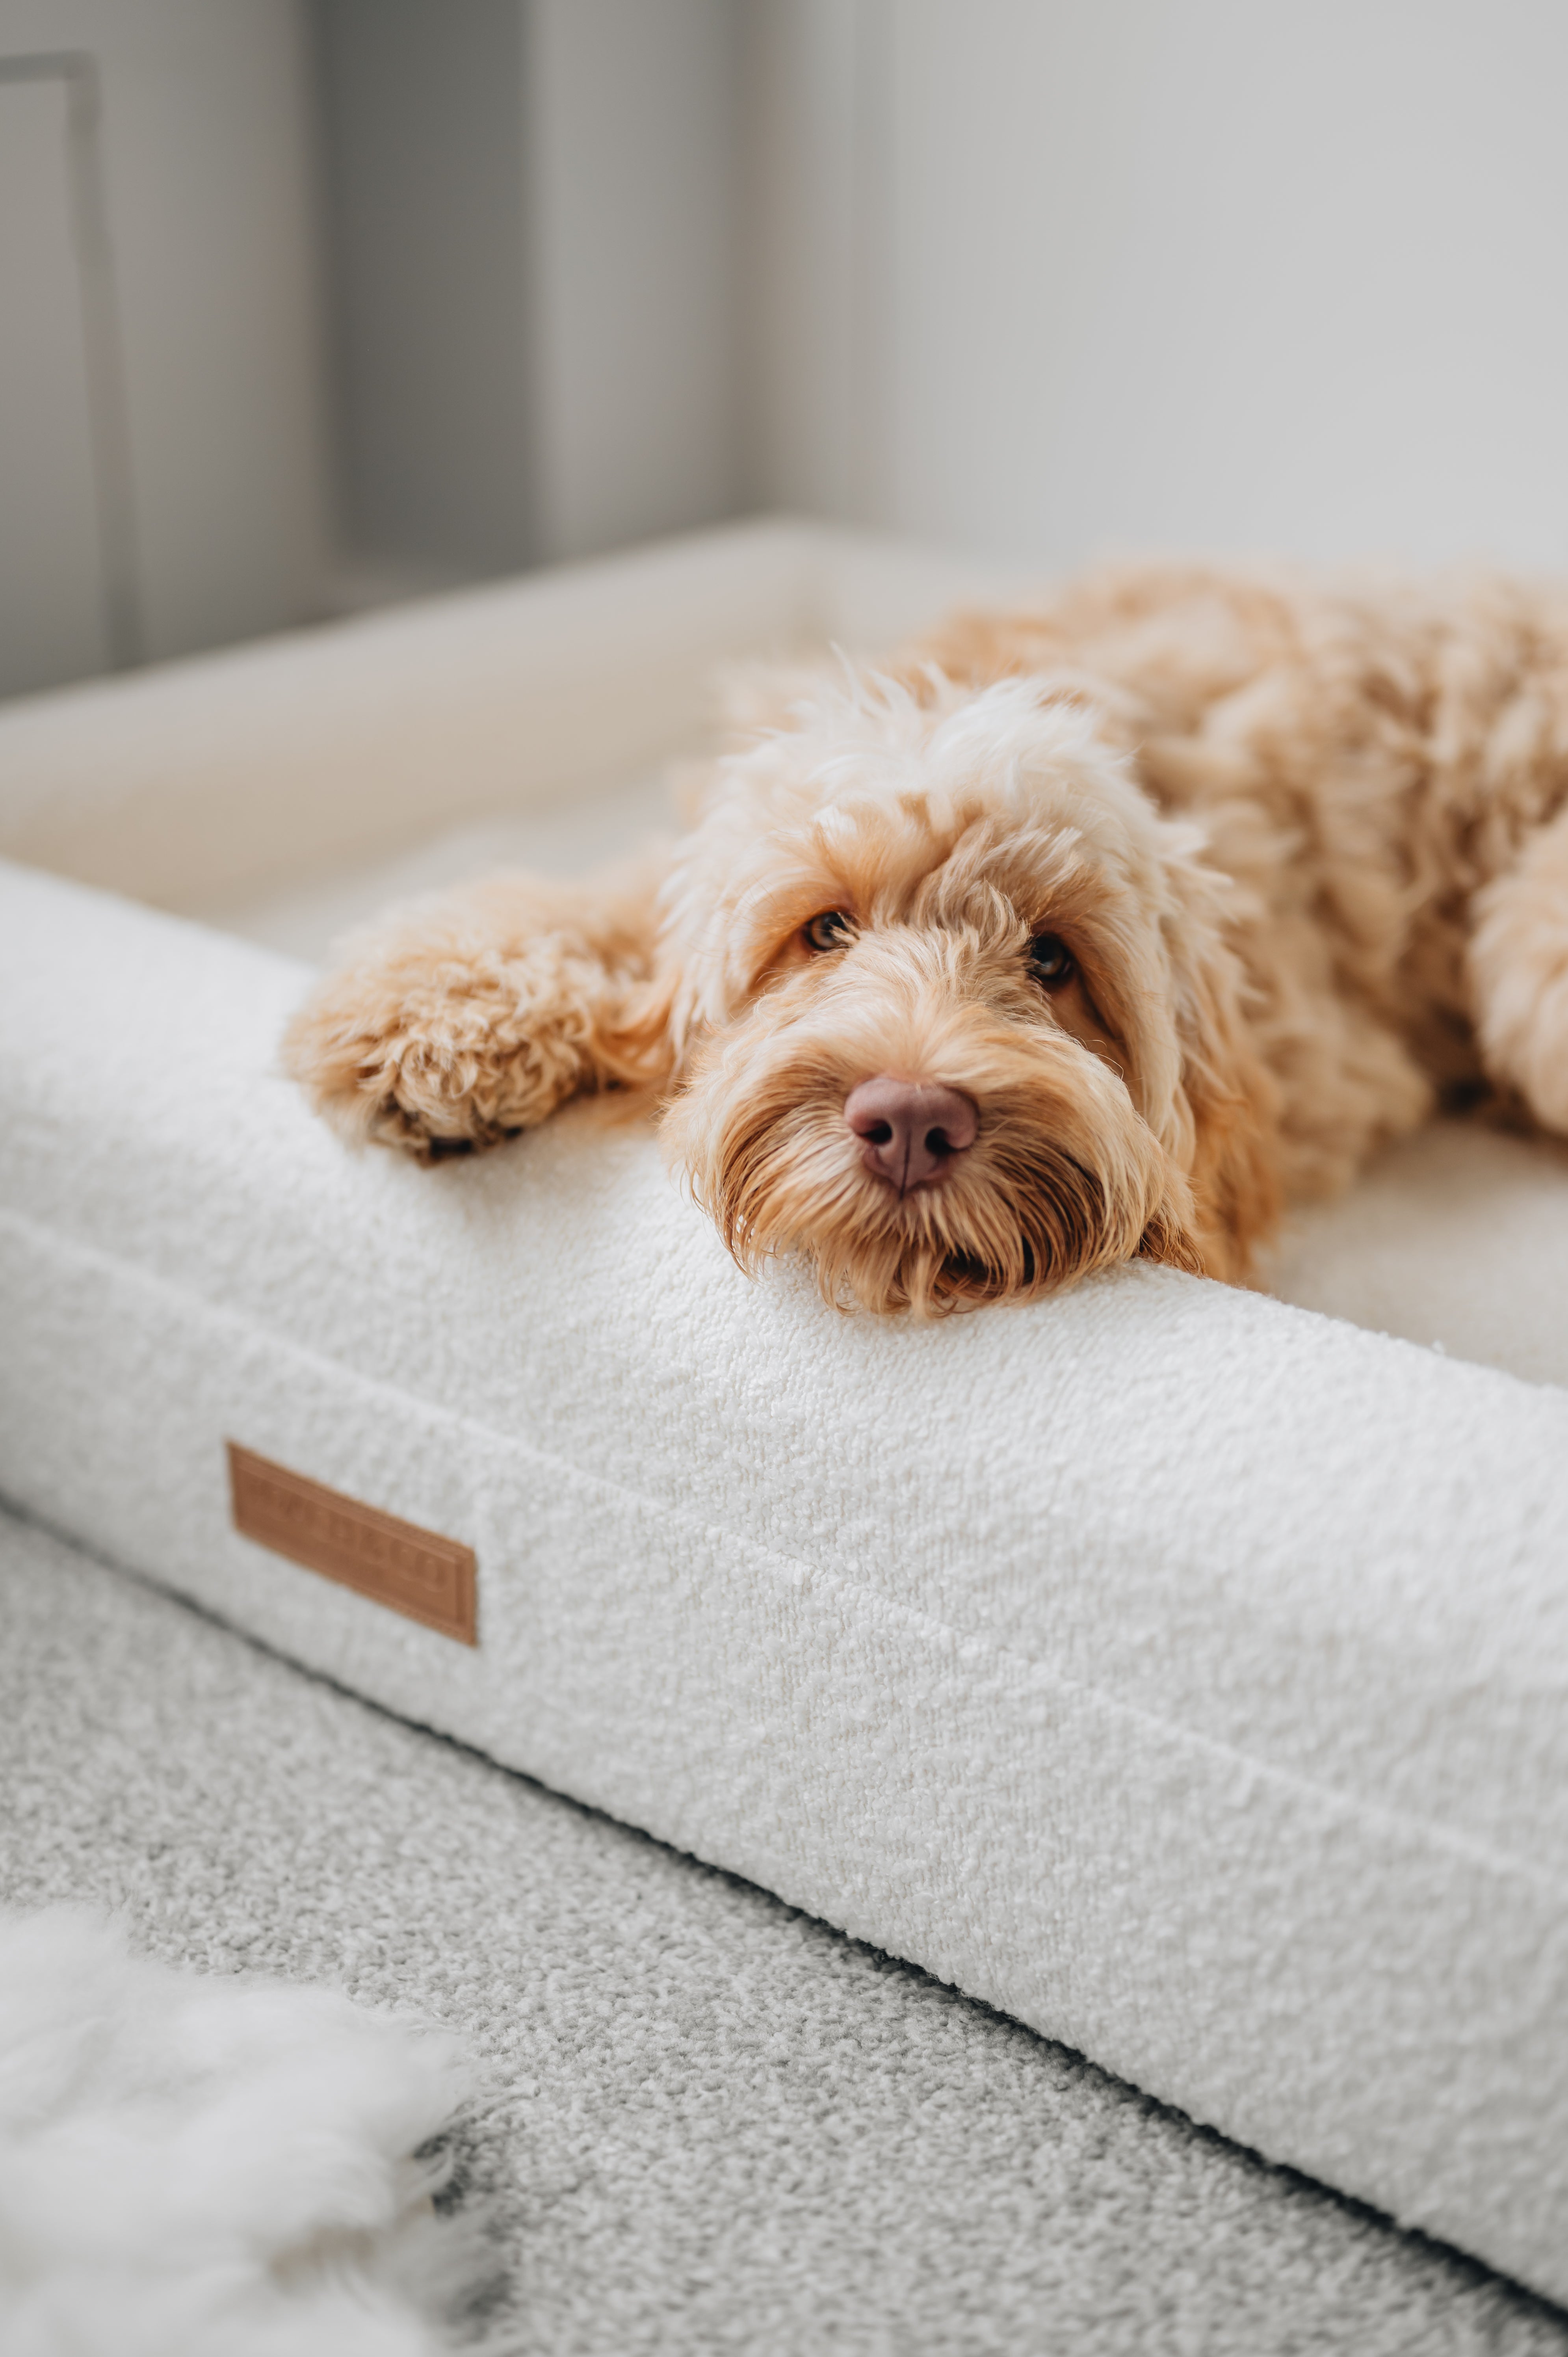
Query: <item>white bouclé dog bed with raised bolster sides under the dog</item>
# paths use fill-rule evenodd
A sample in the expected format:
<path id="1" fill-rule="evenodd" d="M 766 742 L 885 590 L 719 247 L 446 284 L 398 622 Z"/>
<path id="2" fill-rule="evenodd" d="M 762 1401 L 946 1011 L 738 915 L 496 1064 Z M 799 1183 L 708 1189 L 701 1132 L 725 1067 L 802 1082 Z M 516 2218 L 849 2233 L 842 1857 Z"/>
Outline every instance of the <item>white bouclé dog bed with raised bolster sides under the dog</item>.
<path id="1" fill-rule="evenodd" d="M 1561 1157 L 1438 1131 L 1285 1247 L 1450 1355 L 1146 1266 L 908 1327 L 592 1110 L 420 1171 L 276 1077 L 311 867 L 625 837 L 714 655 L 946 589 L 714 535 L 2 714 L 0 841 L 255 938 L 2 874 L 0 1487 L 1568 2298 Z M 479 1643 L 238 1537 L 229 1440 L 472 1549 Z"/>

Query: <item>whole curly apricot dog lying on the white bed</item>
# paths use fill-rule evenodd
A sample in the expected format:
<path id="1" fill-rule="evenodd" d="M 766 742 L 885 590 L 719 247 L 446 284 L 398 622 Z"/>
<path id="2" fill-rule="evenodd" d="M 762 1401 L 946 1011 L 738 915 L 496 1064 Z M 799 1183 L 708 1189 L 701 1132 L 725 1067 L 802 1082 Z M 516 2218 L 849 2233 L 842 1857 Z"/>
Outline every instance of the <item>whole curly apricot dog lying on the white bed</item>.
<path id="1" fill-rule="evenodd" d="M 663 877 L 410 910 L 288 1063 L 420 1155 L 648 1091 L 830 1299 L 1245 1277 L 1441 1098 L 1568 1131 L 1568 596 L 1139 568 L 776 684 Z"/>

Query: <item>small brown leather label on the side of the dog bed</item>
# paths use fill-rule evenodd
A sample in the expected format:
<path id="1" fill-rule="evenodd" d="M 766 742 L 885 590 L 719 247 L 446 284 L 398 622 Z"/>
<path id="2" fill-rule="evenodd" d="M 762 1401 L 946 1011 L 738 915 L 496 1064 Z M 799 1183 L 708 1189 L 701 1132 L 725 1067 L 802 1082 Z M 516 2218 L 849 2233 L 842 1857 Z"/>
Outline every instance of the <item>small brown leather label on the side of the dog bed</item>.
<path id="1" fill-rule="evenodd" d="M 274 1556 L 302 1563 L 307 1572 L 337 1579 L 344 1589 L 391 1605 L 408 1619 L 476 1645 L 474 1549 L 441 1539 L 417 1523 L 401 1523 L 380 1506 L 361 1506 L 342 1490 L 290 1473 L 236 1440 L 229 1447 L 233 1527 Z"/>

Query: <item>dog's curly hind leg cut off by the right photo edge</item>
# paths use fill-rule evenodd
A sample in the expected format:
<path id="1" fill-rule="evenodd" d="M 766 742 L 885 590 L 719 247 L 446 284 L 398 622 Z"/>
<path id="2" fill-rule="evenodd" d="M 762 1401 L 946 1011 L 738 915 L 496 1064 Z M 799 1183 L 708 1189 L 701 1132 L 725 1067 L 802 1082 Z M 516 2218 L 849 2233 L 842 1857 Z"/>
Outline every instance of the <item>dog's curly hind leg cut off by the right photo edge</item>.
<path id="1" fill-rule="evenodd" d="M 1568 1136 L 1568 808 L 1476 893 L 1469 971 L 1488 1072 Z"/>

